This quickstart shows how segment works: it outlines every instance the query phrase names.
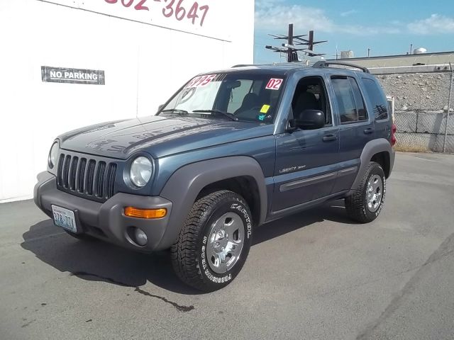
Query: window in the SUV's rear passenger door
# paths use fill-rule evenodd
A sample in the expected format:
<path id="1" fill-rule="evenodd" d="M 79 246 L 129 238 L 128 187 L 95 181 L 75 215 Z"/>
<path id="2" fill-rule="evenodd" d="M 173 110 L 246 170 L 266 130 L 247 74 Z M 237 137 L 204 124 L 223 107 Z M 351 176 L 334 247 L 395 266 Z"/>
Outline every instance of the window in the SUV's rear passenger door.
<path id="1" fill-rule="evenodd" d="M 338 102 L 341 124 L 367 120 L 364 101 L 356 80 L 352 77 L 332 77 L 331 82 Z"/>

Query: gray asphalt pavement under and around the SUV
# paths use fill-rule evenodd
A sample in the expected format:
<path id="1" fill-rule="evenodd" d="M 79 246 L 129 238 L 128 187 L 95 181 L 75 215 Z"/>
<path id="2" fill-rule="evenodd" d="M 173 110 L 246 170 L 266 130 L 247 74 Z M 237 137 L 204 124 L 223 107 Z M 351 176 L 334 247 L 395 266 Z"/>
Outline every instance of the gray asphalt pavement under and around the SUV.
<path id="1" fill-rule="evenodd" d="M 215 293 L 169 254 L 82 242 L 0 205 L 0 339 L 453 339 L 454 156 L 398 153 L 380 217 L 342 201 L 255 229 Z"/>

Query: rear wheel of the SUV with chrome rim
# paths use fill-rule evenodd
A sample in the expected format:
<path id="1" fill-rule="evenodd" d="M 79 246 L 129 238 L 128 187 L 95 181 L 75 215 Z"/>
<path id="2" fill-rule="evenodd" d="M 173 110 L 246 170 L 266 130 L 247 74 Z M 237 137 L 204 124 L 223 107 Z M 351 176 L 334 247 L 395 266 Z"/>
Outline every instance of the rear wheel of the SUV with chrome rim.
<path id="1" fill-rule="evenodd" d="M 386 179 L 382 166 L 370 162 L 355 193 L 345 198 L 347 215 L 360 223 L 372 222 L 380 215 L 385 196 Z"/>

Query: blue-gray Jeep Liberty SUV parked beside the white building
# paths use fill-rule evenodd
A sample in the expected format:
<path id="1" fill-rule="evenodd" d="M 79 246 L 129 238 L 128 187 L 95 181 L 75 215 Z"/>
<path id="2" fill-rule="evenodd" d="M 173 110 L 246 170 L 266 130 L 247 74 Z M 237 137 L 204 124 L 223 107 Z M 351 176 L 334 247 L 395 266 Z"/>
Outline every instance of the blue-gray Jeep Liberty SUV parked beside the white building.
<path id="1" fill-rule="evenodd" d="M 375 220 L 394 132 L 365 68 L 240 65 L 199 74 L 155 115 L 60 135 L 34 199 L 78 239 L 170 249 L 177 276 L 212 291 L 238 275 L 259 225 L 340 198 Z"/>

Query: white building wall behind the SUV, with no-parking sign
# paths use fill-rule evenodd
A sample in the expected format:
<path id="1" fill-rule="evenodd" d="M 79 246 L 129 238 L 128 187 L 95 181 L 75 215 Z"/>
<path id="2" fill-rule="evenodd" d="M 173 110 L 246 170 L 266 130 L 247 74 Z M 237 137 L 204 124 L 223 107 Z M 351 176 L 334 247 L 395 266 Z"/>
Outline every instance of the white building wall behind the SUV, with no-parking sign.
<path id="1" fill-rule="evenodd" d="M 194 74 L 253 61 L 253 0 L 198 1 L 202 27 L 138 2 L 0 1 L 0 202 L 31 198 L 60 133 L 154 114 Z M 105 85 L 43 82 L 42 66 L 104 70 Z"/>

